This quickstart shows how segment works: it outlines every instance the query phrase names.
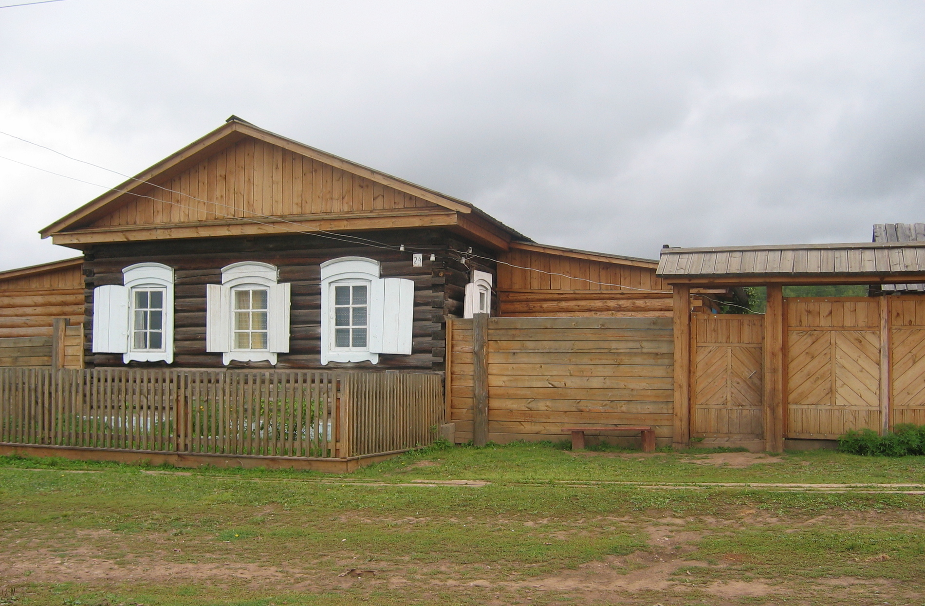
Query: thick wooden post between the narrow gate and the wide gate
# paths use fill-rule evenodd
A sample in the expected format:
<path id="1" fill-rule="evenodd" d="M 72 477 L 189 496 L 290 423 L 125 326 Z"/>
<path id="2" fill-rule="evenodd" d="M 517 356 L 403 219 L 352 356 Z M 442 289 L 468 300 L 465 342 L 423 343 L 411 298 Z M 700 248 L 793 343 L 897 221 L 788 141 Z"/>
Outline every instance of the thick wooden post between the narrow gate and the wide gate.
<path id="1" fill-rule="evenodd" d="M 783 287 L 780 284 L 768 285 L 763 365 L 764 448 L 783 452 Z"/>

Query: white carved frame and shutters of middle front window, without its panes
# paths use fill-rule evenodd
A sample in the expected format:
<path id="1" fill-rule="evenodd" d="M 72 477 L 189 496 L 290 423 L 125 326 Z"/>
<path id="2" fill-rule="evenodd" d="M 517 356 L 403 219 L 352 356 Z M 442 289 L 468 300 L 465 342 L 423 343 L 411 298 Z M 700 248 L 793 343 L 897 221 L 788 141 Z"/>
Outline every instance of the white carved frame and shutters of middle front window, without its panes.
<path id="1" fill-rule="evenodd" d="M 205 350 L 221 352 L 222 364 L 232 361 L 277 364 L 277 353 L 290 349 L 290 284 L 279 283 L 276 266 L 242 261 L 222 267 L 222 283 L 206 286 Z M 267 291 L 267 347 L 234 347 L 235 291 Z"/>

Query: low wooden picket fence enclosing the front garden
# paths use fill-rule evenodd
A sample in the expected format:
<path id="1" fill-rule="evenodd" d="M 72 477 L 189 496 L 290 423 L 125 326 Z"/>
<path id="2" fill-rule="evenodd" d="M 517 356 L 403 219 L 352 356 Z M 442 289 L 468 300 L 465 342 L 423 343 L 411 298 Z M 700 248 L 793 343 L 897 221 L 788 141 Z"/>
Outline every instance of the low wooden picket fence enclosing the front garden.
<path id="1" fill-rule="evenodd" d="M 425 446 L 442 377 L 320 371 L 0 368 L 0 442 L 346 458 Z"/>

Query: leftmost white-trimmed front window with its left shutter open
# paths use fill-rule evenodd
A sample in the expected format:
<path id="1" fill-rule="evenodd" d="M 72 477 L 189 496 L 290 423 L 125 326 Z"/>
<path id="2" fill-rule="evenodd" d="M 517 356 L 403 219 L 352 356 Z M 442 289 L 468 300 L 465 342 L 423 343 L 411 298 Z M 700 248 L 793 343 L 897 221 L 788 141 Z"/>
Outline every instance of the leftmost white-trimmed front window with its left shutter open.
<path id="1" fill-rule="evenodd" d="M 93 352 L 122 362 L 173 362 L 174 272 L 160 263 L 122 270 L 124 286 L 93 290 Z"/>

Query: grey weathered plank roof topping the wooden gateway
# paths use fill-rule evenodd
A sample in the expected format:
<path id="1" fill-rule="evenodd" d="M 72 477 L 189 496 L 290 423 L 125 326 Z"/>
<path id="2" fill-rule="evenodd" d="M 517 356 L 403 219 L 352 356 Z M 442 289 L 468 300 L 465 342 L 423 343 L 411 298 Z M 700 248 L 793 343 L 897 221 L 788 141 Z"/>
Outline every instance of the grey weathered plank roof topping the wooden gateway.
<path id="1" fill-rule="evenodd" d="M 656 275 L 669 281 L 671 278 L 781 281 L 788 277 L 925 277 L 925 241 L 663 248 Z"/>

